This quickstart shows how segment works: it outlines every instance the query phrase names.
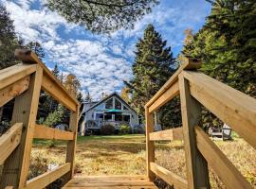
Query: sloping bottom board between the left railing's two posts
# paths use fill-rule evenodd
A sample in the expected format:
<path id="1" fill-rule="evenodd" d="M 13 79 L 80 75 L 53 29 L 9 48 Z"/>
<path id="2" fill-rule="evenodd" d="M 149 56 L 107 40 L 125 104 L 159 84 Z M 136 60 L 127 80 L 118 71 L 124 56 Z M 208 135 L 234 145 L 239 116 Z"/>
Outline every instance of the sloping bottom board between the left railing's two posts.
<path id="1" fill-rule="evenodd" d="M 27 180 L 26 189 L 45 188 L 48 184 L 61 178 L 65 173 L 67 173 L 70 170 L 70 167 L 71 163 L 64 163 L 52 171 L 47 171 L 36 178 Z"/>

